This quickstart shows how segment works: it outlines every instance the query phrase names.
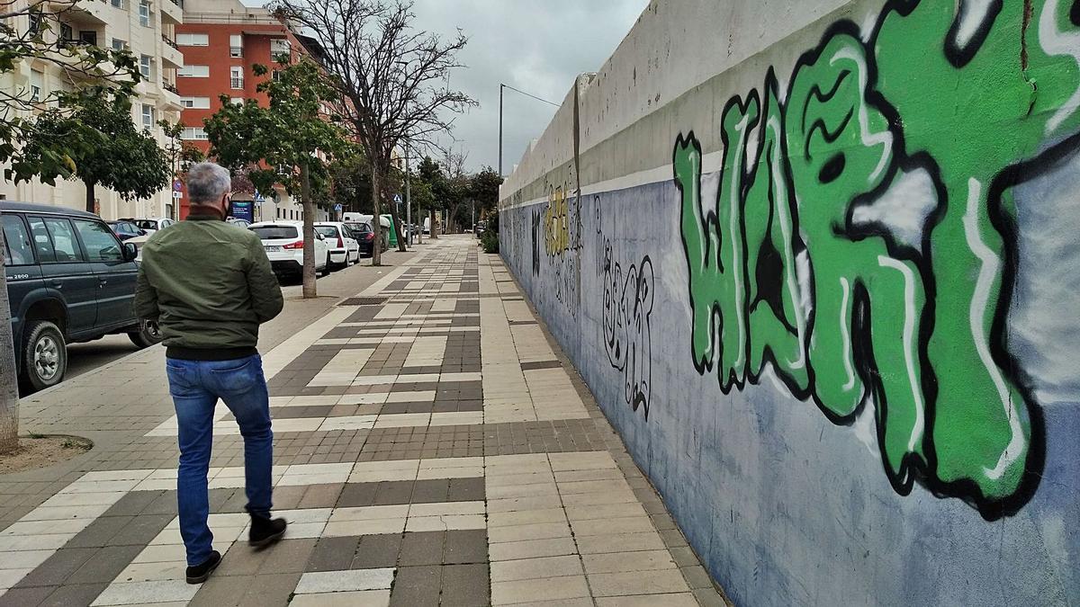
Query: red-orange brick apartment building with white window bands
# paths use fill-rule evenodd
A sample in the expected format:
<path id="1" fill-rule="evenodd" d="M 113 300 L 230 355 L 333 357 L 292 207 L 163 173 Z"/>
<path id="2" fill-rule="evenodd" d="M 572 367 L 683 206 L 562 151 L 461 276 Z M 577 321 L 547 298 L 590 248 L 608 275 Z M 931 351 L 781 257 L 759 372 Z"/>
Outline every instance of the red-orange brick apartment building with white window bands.
<path id="1" fill-rule="evenodd" d="M 258 99 L 267 105 L 266 94 L 257 92 L 261 80 L 253 71 L 255 65 L 273 67 L 278 58 L 291 60 L 301 54 L 315 55 L 313 41 L 295 32 L 286 23 L 261 8 L 245 6 L 240 0 L 186 0 L 184 25 L 177 27 L 177 43 L 184 52 L 185 66 L 179 70 L 177 86 L 186 125 L 184 138 L 203 152 L 210 149 L 203 121 L 227 103 Z M 187 192 L 180 200 L 180 216 L 187 215 Z M 303 208 L 283 188 L 271 192 L 234 191 L 233 215 L 254 221 L 272 219 L 300 220 Z M 323 219 L 324 212 L 320 212 Z"/>

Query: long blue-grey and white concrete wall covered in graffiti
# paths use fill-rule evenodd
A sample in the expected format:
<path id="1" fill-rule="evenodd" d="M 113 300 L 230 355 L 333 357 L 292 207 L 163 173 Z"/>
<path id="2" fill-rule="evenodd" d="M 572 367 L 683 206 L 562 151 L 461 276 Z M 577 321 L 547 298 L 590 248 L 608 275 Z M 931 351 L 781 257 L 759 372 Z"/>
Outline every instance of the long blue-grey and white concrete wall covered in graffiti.
<path id="1" fill-rule="evenodd" d="M 1080 9 L 654 1 L 502 255 L 738 604 L 1080 601 Z"/>

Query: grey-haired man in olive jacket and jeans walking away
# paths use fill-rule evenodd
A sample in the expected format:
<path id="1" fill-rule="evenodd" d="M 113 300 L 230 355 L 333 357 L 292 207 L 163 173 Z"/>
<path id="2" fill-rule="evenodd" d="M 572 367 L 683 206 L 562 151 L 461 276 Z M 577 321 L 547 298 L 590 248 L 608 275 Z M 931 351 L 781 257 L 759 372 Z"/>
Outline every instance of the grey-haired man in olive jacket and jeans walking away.
<path id="1" fill-rule="evenodd" d="M 225 402 L 244 437 L 248 542 L 265 548 L 285 534 L 270 518 L 273 433 L 259 324 L 281 313 L 284 300 L 261 241 L 225 221 L 229 172 L 212 162 L 188 171 L 191 214 L 160 230 L 143 247 L 135 307 L 156 321 L 167 348 L 168 392 L 176 406 L 180 462 L 177 501 L 187 549 L 188 583 L 204 582 L 221 562 L 206 525 L 206 472 L 214 407 Z"/>

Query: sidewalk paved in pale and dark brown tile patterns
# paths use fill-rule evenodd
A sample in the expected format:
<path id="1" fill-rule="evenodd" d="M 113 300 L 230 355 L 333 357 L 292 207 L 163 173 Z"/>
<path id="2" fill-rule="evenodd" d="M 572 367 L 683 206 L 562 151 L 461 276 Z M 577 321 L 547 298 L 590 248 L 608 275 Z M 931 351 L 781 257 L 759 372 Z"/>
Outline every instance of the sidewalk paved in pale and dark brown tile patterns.
<path id="1" fill-rule="evenodd" d="M 225 559 L 184 582 L 157 402 L 89 472 L 18 485 L 40 505 L 0 501 L 28 510 L 0 531 L 0 605 L 723 604 L 499 258 L 470 238 L 426 251 L 264 356 L 287 539 L 242 541 L 243 444 L 220 407 Z"/>

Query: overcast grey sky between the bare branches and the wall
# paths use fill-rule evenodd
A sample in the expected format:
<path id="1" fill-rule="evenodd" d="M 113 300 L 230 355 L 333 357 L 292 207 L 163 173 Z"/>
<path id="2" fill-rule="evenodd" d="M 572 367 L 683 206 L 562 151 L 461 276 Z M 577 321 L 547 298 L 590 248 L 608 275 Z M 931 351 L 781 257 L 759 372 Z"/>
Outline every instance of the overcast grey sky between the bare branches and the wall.
<path id="1" fill-rule="evenodd" d="M 249 1 L 249 4 L 259 4 Z M 562 103 L 573 78 L 596 71 L 622 41 L 648 0 L 417 0 L 416 27 L 469 37 L 451 86 L 480 108 L 458 117 L 456 146 L 467 168 L 499 162 L 499 83 Z M 510 174 L 529 140 L 543 132 L 555 107 L 505 92 L 503 173 Z"/>

